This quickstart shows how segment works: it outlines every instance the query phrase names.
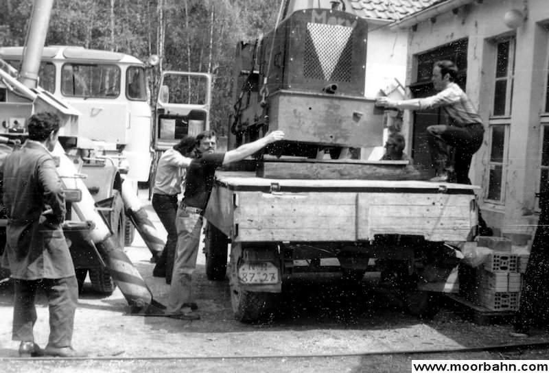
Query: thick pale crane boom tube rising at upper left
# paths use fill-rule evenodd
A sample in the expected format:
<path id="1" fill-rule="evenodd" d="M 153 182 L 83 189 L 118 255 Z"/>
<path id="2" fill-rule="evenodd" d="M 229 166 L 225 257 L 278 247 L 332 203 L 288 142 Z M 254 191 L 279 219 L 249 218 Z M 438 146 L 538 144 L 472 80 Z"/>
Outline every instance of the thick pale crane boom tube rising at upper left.
<path id="1" fill-rule="evenodd" d="M 46 34 L 49 26 L 49 15 L 54 6 L 54 0 L 35 0 L 32 7 L 32 16 L 29 24 L 29 34 L 25 51 L 23 52 L 23 64 L 19 73 L 19 82 L 27 88 L 38 86 L 38 71 L 42 50 L 46 42 Z"/>

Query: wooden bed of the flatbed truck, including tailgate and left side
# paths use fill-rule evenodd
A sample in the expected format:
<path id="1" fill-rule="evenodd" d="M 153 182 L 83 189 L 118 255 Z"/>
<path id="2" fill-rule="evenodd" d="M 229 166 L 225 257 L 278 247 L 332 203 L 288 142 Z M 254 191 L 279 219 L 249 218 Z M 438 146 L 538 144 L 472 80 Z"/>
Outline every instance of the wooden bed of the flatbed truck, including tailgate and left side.
<path id="1" fill-rule="evenodd" d="M 233 242 L 352 242 L 375 234 L 469 241 L 479 190 L 411 180 L 278 180 L 217 171 L 205 217 Z"/>

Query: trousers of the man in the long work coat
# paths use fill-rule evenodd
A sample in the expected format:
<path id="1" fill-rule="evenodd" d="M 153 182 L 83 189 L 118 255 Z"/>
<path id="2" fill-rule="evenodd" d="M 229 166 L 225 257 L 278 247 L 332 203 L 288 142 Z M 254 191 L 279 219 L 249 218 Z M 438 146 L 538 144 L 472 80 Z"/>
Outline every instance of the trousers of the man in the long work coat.
<path id="1" fill-rule="evenodd" d="M 49 304 L 49 346 L 71 346 L 74 313 L 78 304 L 76 277 L 43 278 L 41 280 L 15 279 L 13 309 L 14 341 L 34 341 L 32 328 L 36 323 L 34 299 L 36 291 L 44 289 Z"/>

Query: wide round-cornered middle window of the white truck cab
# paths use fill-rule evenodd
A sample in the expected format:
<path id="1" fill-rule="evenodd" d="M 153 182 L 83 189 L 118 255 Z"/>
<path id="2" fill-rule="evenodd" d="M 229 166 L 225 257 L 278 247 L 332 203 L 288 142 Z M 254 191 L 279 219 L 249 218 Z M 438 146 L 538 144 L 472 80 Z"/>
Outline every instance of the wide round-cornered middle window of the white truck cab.
<path id="1" fill-rule="evenodd" d="M 120 68 L 114 64 L 66 63 L 61 93 L 68 97 L 115 98 L 120 94 Z"/>

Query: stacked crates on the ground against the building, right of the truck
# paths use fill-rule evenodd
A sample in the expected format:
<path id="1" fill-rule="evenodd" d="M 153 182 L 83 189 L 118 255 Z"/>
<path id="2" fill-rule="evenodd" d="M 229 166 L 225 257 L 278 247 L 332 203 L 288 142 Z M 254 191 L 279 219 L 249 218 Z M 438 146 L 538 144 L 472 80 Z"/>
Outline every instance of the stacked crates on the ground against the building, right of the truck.
<path id="1" fill-rule="evenodd" d="M 499 237 L 481 237 L 481 245 L 491 254 L 476 269 L 474 300 L 490 311 L 517 311 L 528 250 L 514 248 L 509 239 Z"/>

